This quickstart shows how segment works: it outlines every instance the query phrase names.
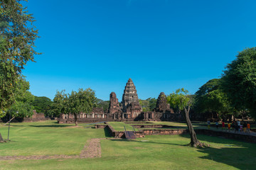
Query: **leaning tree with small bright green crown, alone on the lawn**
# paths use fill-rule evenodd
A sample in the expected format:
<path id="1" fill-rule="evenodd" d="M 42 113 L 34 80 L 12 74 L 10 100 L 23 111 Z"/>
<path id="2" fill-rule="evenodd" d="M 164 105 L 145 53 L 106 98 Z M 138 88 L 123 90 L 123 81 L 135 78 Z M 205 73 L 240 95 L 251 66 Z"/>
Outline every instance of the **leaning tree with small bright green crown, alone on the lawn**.
<path id="1" fill-rule="evenodd" d="M 206 147 L 205 144 L 199 142 L 196 137 L 196 132 L 193 130 L 193 125 L 189 118 L 189 111 L 192 106 L 192 98 L 188 95 L 188 91 L 186 89 L 177 89 L 176 92 L 167 96 L 167 101 L 170 103 L 170 106 L 173 108 L 178 108 L 180 111 L 185 112 L 186 124 L 188 126 L 188 131 L 191 136 L 191 147 Z"/>

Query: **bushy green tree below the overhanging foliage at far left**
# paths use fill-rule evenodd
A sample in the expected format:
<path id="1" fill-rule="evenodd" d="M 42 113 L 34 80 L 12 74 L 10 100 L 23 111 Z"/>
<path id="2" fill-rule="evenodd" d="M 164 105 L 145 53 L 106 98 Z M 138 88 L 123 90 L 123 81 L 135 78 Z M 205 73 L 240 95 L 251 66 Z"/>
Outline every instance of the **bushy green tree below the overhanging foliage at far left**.
<path id="1" fill-rule="evenodd" d="M 29 83 L 23 77 L 18 79 L 15 91 L 15 103 L 7 113 L 18 118 L 31 117 L 33 115 L 34 96 L 29 90 Z"/>

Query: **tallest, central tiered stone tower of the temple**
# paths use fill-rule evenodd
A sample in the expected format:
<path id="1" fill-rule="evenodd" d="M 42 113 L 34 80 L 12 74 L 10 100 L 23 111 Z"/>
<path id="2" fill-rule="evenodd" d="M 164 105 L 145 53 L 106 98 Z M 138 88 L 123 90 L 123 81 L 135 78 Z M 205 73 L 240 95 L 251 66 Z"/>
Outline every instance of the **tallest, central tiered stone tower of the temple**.
<path id="1" fill-rule="evenodd" d="M 124 113 L 140 113 L 142 111 L 142 107 L 139 106 L 137 90 L 131 78 L 124 87 L 124 94 L 122 96 L 122 110 Z"/>

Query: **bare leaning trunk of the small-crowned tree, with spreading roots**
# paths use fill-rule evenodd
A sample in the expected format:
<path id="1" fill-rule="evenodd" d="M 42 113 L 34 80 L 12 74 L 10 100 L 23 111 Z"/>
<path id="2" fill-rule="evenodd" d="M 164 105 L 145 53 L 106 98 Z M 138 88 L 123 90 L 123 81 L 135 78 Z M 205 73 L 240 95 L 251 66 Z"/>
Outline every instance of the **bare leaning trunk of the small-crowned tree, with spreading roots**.
<path id="1" fill-rule="evenodd" d="M 189 145 L 191 147 L 208 147 L 204 143 L 199 142 L 196 137 L 196 132 L 195 130 L 193 130 L 193 125 L 191 123 L 191 120 L 189 119 L 190 106 L 188 106 L 188 110 L 186 108 L 184 108 L 184 110 L 186 115 L 186 124 L 188 125 L 188 131 L 189 131 L 189 134 L 191 135 L 191 142 Z"/>

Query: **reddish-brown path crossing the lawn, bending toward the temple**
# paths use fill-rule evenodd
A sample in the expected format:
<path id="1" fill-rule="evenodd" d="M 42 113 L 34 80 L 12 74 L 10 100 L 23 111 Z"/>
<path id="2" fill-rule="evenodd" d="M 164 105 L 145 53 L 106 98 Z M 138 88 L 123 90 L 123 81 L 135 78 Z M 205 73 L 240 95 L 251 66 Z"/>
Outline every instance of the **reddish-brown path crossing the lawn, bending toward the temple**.
<path id="1" fill-rule="evenodd" d="M 0 156 L 1 160 L 18 160 L 18 159 L 85 159 L 85 158 L 97 158 L 101 157 L 100 140 L 108 140 L 108 138 L 94 138 L 88 140 L 82 149 L 80 155 L 31 155 L 31 156 Z"/>

